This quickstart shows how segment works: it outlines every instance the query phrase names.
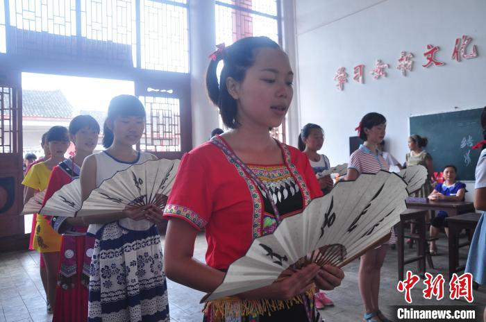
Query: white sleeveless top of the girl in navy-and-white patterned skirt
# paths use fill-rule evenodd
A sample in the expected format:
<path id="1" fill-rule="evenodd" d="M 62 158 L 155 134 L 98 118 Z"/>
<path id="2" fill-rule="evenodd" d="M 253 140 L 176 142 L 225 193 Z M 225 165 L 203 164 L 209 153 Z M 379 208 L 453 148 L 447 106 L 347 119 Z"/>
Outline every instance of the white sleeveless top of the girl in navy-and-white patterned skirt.
<path id="1" fill-rule="evenodd" d="M 146 161 L 152 160 L 152 155 L 150 153 L 139 152 L 138 158 L 134 162 L 124 162 L 117 160 L 105 151 L 94 153 L 94 158 L 97 160 L 97 187 L 103 183 L 104 180 L 111 178 L 118 171 L 127 169 L 133 164 L 141 164 Z M 129 229 L 129 230 L 147 230 L 153 226 L 153 223 L 146 220 L 135 221 L 130 218 L 123 218 L 118 220 L 119 226 Z M 98 230 L 100 230 L 104 223 L 92 223 L 87 232 L 96 235 Z"/>

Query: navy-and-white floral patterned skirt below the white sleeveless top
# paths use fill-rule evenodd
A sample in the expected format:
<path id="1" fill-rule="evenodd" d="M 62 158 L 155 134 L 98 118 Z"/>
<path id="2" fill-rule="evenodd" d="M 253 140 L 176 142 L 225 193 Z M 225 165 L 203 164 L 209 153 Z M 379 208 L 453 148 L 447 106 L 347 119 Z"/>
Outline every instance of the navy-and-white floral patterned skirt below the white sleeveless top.
<path id="1" fill-rule="evenodd" d="M 156 226 L 128 230 L 114 222 L 97 232 L 87 320 L 169 321 L 167 284 Z"/>

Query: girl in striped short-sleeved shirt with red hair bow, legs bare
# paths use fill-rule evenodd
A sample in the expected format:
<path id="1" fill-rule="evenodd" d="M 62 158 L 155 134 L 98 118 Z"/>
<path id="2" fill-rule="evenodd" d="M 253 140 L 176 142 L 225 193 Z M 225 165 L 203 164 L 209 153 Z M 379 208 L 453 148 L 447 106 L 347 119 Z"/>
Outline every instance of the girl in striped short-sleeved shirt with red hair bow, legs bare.
<path id="1" fill-rule="evenodd" d="M 360 173 L 377 173 L 380 170 L 388 170 L 389 166 L 381 153 L 378 145 L 385 138 L 387 119 L 383 115 L 372 112 L 364 115 L 358 130 L 360 139 L 364 143 L 351 154 L 346 180 L 355 180 Z M 393 240 L 392 240 L 393 239 Z M 389 242 L 370 249 L 361 256 L 360 271 L 358 272 L 358 285 L 361 298 L 364 303 L 364 321 L 387 322 L 378 308 L 378 294 L 380 291 L 380 270 L 385 260 L 388 244 L 394 244 L 395 237 L 392 234 Z"/>

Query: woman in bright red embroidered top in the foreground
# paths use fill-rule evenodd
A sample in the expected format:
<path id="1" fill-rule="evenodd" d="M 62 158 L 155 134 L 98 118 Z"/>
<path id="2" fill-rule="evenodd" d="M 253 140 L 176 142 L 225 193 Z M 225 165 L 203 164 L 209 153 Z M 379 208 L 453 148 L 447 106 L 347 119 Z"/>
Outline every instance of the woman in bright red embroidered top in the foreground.
<path id="1" fill-rule="evenodd" d="M 219 60 L 224 60 L 220 85 Z M 164 212 L 170 219 L 165 272 L 172 280 L 213 291 L 253 239 L 275 230 L 278 217 L 298 214 L 311 198 L 321 196 L 308 158 L 269 135 L 292 101 L 293 77 L 287 55 L 267 37 L 247 37 L 212 55 L 208 93 L 231 130 L 187 153 L 179 167 Z M 202 228 L 208 241 L 206 264 L 193 257 Z M 224 300 L 208 303 L 204 319 L 318 321 L 312 285 L 333 289 L 342 278 L 341 269 L 310 264 L 272 285 L 232 297 L 232 312 L 221 310 L 227 307 Z M 248 303 L 258 301 L 277 305 L 249 309 Z"/>

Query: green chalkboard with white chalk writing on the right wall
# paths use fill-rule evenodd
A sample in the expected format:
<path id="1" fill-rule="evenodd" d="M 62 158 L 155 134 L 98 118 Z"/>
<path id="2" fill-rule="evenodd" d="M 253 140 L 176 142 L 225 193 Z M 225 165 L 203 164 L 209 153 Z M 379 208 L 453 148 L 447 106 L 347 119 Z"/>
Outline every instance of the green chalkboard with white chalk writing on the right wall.
<path id="1" fill-rule="evenodd" d="M 410 135 L 428 138 L 425 150 L 432 155 L 434 171 L 445 165 L 458 167 L 458 180 L 474 180 L 480 149 L 471 146 L 483 139 L 483 108 L 410 117 Z"/>

